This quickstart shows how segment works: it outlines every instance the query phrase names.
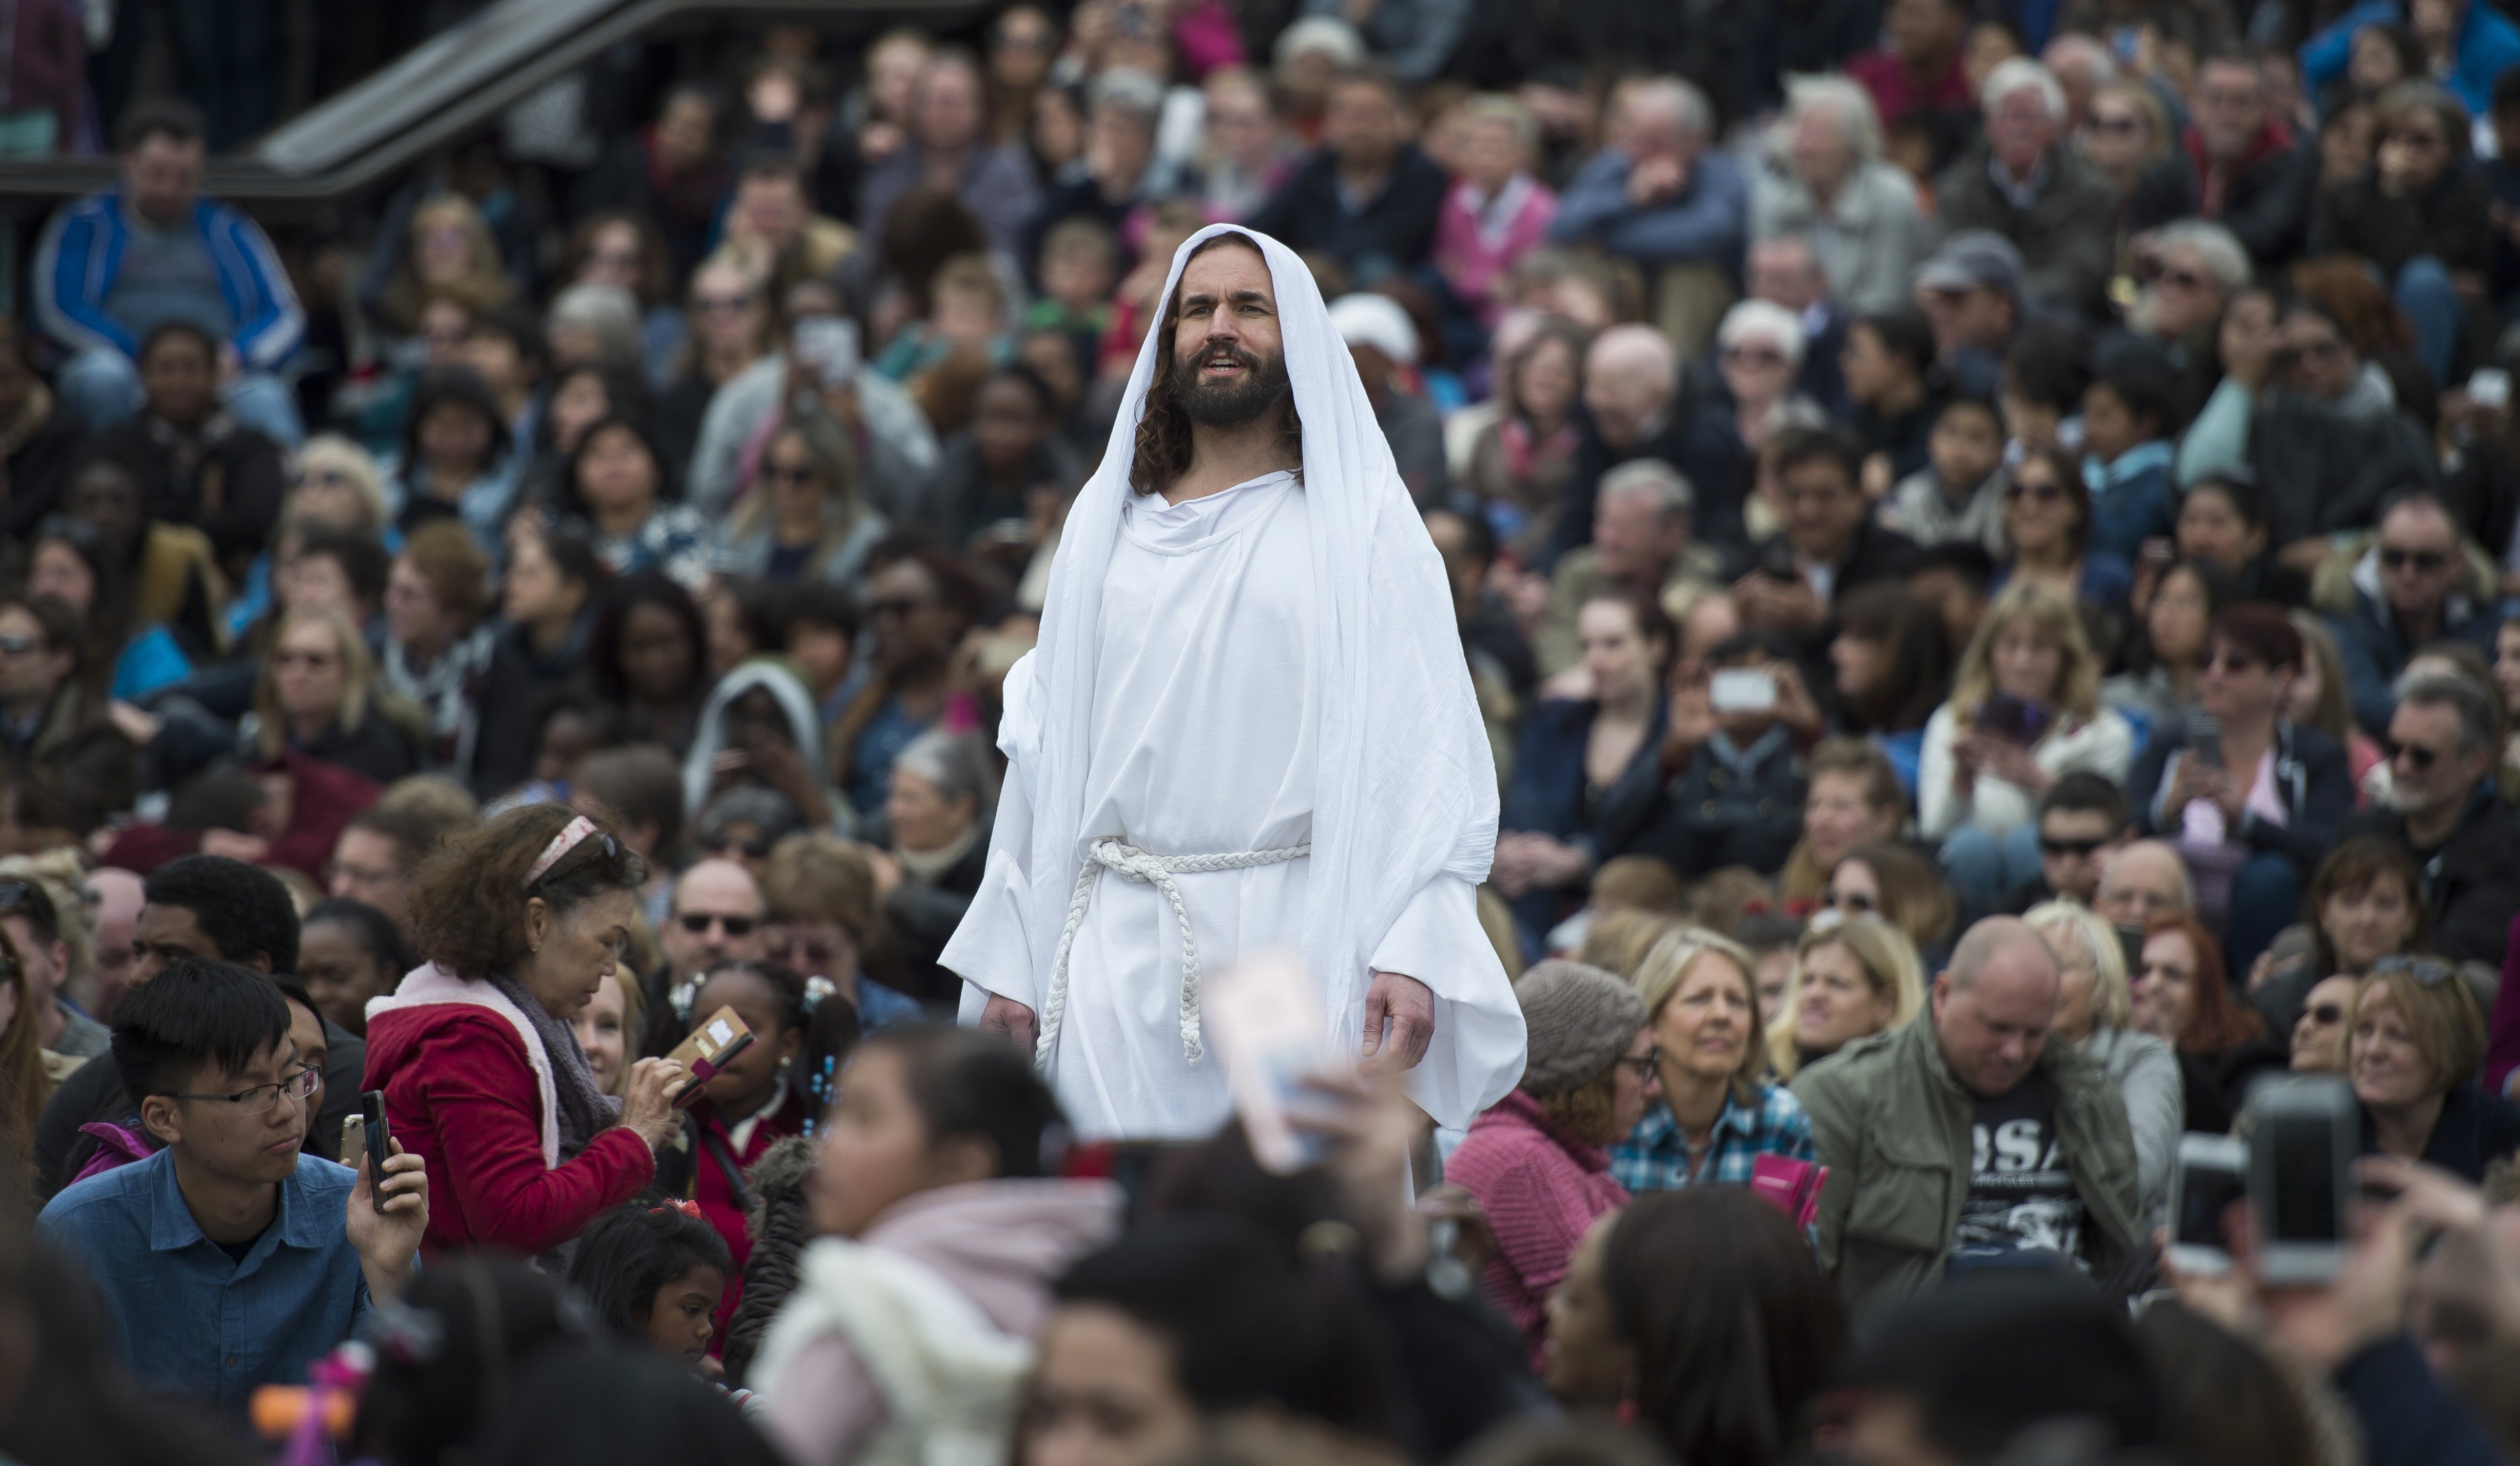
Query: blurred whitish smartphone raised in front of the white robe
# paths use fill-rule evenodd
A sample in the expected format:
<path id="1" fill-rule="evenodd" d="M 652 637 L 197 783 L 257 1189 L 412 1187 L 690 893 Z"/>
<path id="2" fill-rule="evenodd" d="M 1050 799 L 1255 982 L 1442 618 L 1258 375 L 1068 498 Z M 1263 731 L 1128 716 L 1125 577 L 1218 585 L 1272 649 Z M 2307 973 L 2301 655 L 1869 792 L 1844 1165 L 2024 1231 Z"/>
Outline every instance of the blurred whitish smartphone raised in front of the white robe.
<path id="1" fill-rule="evenodd" d="M 1225 1060 L 1252 1159 L 1280 1176 L 1320 1164 L 1320 1144 L 1295 1128 L 1310 1106 L 1303 1081 L 1338 1073 L 1320 987 L 1290 952 L 1257 952 L 1200 985 L 1207 1028 Z"/>

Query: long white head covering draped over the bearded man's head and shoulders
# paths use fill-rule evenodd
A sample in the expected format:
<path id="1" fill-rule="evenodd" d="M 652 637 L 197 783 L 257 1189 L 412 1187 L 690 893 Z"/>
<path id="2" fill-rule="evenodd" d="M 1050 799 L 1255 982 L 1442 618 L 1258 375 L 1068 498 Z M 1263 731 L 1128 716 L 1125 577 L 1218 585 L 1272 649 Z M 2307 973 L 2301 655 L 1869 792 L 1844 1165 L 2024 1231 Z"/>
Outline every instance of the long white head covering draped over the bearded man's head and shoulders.
<path id="1" fill-rule="evenodd" d="M 1497 849 L 1497 763 L 1469 690 L 1444 562 L 1373 423 L 1373 403 L 1313 272 L 1268 234 L 1210 224 L 1174 252 L 1159 300 L 1174 297 L 1189 254 L 1217 234 L 1250 239 L 1270 267 L 1285 370 L 1303 418 L 1303 496 L 1320 599 L 1320 786 L 1303 960 L 1320 982 L 1331 1040 L 1353 1053 L 1373 945 L 1439 874 L 1469 884 L 1487 879 Z M 1159 315 L 1137 353 L 1104 461 L 1068 509 L 1041 642 L 1005 680 L 1000 748 L 1023 776 L 1033 811 L 1026 929 L 1036 980 L 1051 970 L 1076 889 L 1101 592 L 1131 494 L 1137 423 L 1147 413 L 1162 332 Z M 1484 945 L 1482 955 L 1489 955 Z M 1520 1078 L 1522 1013 L 1492 955 L 1484 972 L 1416 977 L 1449 1000 L 1439 1005 L 1436 1043 L 1446 1040 L 1446 1018 L 1492 1028 L 1462 1048 L 1489 1058 L 1446 1071 L 1429 1055 L 1411 1071 L 1421 1106 L 1446 1123 L 1467 1123 Z M 1512 1055 L 1502 1068 L 1499 1048 Z"/>

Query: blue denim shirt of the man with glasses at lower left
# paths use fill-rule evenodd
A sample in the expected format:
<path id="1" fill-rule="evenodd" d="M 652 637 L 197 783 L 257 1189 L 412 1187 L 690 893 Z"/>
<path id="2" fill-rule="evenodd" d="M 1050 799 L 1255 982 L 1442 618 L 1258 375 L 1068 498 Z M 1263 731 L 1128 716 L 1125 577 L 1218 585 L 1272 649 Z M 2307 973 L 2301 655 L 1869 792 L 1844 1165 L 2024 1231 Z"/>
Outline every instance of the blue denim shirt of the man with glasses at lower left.
<path id="1" fill-rule="evenodd" d="M 302 1385 L 307 1363 L 373 1307 L 348 1234 L 353 1181 L 333 1161 L 297 1156 L 244 1262 L 202 1237 L 171 1149 L 53 1196 L 35 1232 L 86 1264 L 144 1390 L 242 1418 L 257 1385 Z"/>

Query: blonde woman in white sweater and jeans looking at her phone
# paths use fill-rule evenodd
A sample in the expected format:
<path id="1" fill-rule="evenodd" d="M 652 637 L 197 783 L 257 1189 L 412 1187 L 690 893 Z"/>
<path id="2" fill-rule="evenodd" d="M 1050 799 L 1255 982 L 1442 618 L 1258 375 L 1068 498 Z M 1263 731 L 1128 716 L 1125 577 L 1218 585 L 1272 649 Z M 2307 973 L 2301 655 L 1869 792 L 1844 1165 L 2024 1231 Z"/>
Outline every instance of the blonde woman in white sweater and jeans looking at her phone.
<path id="1" fill-rule="evenodd" d="M 1971 917 L 2041 874 L 2039 796 L 2061 773 L 2127 778 L 2134 728 L 2099 705 L 2099 660 L 2074 602 L 2024 579 L 2003 589 L 1961 655 L 1950 700 L 1925 723 L 1918 834 Z"/>

